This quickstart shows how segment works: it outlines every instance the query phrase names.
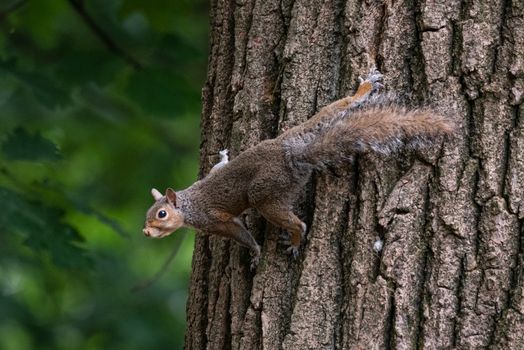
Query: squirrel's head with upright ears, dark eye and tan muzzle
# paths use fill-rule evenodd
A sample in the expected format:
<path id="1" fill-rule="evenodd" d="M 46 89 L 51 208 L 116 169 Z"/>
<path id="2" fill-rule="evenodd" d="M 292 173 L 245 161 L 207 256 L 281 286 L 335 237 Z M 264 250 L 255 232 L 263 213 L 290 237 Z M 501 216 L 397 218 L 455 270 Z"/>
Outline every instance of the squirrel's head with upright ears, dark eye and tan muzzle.
<path id="1" fill-rule="evenodd" d="M 155 204 L 147 211 L 142 232 L 148 237 L 162 238 L 184 226 L 184 215 L 177 208 L 176 192 L 171 188 L 163 196 L 157 189 L 151 189 Z"/>

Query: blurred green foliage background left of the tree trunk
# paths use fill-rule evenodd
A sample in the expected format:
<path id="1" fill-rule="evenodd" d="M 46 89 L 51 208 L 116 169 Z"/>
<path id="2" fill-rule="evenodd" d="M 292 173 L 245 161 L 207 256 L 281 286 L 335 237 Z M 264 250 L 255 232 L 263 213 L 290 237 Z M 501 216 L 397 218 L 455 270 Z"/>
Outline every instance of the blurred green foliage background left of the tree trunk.
<path id="1" fill-rule="evenodd" d="M 207 6 L 0 1 L 0 349 L 182 347 L 193 235 L 141 229 L 197 176 Z"/>

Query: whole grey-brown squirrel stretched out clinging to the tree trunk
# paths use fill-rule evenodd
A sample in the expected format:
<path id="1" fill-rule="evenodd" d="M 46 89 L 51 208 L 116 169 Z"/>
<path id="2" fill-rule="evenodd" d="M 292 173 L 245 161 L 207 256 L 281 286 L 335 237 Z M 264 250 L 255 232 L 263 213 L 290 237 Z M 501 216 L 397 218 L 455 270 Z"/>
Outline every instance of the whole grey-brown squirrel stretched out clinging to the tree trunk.
<path id="1" fill-rule="evenodd" d="M 181 191 L 165 195 L 152 189 L 143 232 L 161 238 L 182 226 L 232 238 L 251 249 L 252 267 L 260 246 L 239 216 L 248 208 L 289 233 L 287 252 L 297 257 L 306 224 L 292 211 L 294 200 L 314 170 L 342 166 L 355 154 L 390 154 L 402 146 L 434 144 L 454 131 L 454 124 L 430 110 L 399 107 L 381 94 L 382 75 L 372 69 L 353 96 L 322 108 L 306 122 L 260 142 Z"/>

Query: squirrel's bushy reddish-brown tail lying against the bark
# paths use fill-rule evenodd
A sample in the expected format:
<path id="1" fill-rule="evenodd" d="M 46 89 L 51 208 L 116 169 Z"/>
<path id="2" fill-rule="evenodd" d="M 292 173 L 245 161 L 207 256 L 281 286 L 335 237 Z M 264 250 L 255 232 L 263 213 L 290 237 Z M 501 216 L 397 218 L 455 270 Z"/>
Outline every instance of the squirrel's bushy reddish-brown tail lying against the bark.
<path id="1" fill-rule="evenodd" d="M 390 154 L 401 147 L 430 146 L 454 132 L 447 118 L 428 110 L 376 106 L 356 110 L 318 135 L 302 154 L 317 166 L 340 163 L 354 154 Z"/>

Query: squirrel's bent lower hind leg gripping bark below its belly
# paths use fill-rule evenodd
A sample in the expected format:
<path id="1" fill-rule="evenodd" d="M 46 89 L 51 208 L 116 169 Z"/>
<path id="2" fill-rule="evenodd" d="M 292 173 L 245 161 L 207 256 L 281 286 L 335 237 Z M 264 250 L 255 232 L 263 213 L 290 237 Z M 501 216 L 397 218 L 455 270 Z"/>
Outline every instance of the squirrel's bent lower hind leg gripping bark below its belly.
<path id="1" fill-rule="evenodd" d="M 284 242 L 289 244 L 286 251 L 296 258 L 302 238 L 306 235 L 306 224 L 285 204 L 271 203 L 257 209 L 267 221 L 288 231 L 289 241 Z"/>

